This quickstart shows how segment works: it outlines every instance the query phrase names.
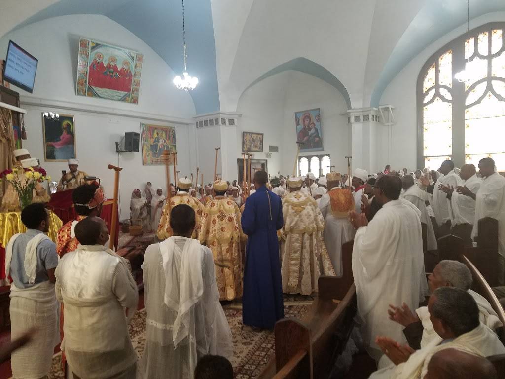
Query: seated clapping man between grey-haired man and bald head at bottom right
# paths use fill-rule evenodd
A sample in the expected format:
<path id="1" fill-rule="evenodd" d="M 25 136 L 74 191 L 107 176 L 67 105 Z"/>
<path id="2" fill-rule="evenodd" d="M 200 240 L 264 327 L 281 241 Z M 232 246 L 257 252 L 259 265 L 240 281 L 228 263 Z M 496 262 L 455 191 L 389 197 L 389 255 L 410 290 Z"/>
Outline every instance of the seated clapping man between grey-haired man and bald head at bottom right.
<path id="1" fill-rule="evenodd" d="M 375 371 L 369 379 L 424 378 L 431 357 L 444 349 L 483 357 L 505 353 L 494 331 L 479 321 L 479 308 L 468 292 L 454 287 L 438 288 L 430 296 L 428 309 L 437 338 L 415 351 L 388 337 L 378 337 L 377 343 L 393 363 Z"/>

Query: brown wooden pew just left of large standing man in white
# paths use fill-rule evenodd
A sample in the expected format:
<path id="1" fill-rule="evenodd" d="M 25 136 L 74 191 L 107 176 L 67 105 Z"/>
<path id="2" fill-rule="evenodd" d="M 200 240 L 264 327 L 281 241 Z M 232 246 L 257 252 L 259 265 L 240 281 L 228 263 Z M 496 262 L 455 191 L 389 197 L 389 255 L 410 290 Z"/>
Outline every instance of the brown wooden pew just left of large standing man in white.
<path id="1" fill-rule="evenodd" d="M 345 349 L 356 315 L 352 245 L 342 245 L 343 276 L 321 276 L 319 295 L 302 320 L 275 324 L 275 357 L 260 378 L 327 378 Z"/>

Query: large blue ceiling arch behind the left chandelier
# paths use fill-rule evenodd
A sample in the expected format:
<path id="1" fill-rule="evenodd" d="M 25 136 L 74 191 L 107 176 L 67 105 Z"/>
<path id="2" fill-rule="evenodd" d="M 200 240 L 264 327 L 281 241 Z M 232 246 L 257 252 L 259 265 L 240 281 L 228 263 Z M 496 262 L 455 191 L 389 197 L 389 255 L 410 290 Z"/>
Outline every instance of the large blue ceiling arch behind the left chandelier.
<path id="1" fill-rule="evenodd" d="M 182 75 L 181 0 L 61 0 L 17 25 L 16 29 L 48 18 L 74 14 L 98 14 L 116 21 L 149 45 L 176 74 Z M 219 89 L 210 0 L 185 2 L 184 14 L 188 71 L 199 79 L 198 86 L 189 92 L 196 114 L 218 111 Z M 107 36 L 103 41 L 108 42 Z"/>

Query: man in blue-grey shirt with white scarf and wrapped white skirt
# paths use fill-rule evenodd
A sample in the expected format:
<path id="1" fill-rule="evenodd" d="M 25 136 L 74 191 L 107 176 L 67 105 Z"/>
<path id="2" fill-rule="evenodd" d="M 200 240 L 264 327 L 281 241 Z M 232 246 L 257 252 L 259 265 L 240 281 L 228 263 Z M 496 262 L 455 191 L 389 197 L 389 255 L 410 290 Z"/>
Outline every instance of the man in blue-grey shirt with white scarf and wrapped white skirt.
<path id="1" fill-rule="evenodd" d="M 60 342 L 59 306 L 55 296 L 56 244 L 47 238 L 49 215 L 43 204 L 28 205 L 21 212 L 25 233 L 12 236 L 6 250 L 6 277 L 11 283 L 11 340 L 36 328 L 31 340 L 12 353 L 15 378 L 46 377 L 54 348 Z"/>

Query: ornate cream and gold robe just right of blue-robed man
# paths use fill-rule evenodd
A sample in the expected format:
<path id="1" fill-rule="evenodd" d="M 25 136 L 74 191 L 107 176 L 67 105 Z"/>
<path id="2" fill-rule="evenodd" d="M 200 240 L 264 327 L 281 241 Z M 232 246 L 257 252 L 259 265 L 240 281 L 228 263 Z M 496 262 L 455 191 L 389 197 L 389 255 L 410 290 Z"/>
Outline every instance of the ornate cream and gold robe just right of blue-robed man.
<path id="1" fill-rule="evenodd" d="M 282 201 L 282 292 L 310 295 L 318 291 L 321 275 L 335 275 L 322 238 L 324 218 L 316 201 L 301 191 Z"/>

